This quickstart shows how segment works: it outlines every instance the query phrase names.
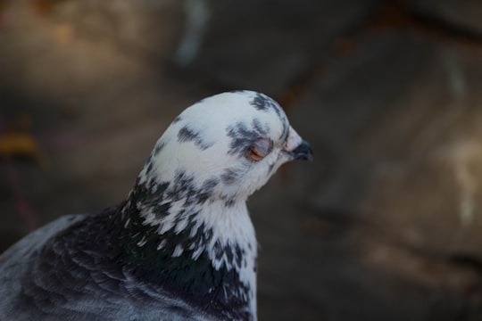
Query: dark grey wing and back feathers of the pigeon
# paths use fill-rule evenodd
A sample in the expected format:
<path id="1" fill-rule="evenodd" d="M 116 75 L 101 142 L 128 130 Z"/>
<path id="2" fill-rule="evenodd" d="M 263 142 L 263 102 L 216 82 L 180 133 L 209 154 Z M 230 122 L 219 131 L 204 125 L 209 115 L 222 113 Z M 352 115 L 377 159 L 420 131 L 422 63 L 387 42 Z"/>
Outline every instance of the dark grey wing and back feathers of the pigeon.
<path id="1" fill-rule="evenodd" d="M 59 244 L 62 234 L 92 225 L 96 217 L 70 215 L 37 229 L 0 256 L 1 320 L 212 320 L 202 311 L 148 284 L 139 284 L 122 269 L 105 269 L 96 255 Z M 104 226 L 103 226 L 104 228 Z M 74 243 L 75 244 L 75 243 Z M 54 249 L 62 254 L 55 256 Z M 75 259 L 65 260 L 67 256 Z M 65 265 L 54 265 L 59 262 Z M 70 258 L 69 258 L 70 259 Z M 98 259 L 98 258 L 97 258 Z M 52 260 L 46 262 L 46 260 Z M 78 264 L 75 263 L 79 260 Z M 66 268 L 71 265 L 70 268 Z M 55 270 L 57 268 L 57 270 Z M 115 289 L 115 291 L 112 291 Z M 9 298 L 10 300 L 7 300 Z"/>

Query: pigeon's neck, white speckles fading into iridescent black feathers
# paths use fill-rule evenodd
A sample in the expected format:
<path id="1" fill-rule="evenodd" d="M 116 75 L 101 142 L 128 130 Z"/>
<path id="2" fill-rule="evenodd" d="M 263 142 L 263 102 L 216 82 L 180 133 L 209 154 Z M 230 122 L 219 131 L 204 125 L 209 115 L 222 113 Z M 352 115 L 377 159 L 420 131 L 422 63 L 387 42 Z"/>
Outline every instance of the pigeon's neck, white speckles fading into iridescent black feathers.
<path id="1" fill-rule="evenodd" d="M 245 202 L 227 207 L 204 193 L 137 181 L 120 210 L 129 264 L 200 308 L 255 316 L 256 239 Z"/>

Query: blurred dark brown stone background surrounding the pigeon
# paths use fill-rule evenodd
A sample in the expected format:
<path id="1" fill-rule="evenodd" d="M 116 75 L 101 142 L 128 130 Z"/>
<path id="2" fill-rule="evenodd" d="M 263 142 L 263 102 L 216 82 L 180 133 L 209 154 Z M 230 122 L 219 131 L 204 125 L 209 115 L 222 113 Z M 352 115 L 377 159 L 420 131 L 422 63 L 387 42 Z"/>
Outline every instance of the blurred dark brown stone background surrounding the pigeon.
<path id="1" fill-rule="evenodd" d="M 261 320 L 482 320 L 480 0 L 0 0 L 0 251 L 232 89 L 315 152 L 248 204 Z"/>

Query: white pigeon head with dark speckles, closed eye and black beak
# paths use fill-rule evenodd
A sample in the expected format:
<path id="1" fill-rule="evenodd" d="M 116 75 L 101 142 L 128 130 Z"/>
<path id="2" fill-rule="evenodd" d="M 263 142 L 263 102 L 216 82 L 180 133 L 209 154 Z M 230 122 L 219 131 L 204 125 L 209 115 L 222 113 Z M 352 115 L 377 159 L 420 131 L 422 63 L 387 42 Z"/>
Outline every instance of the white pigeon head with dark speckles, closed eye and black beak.
<path id="1" fill-rule="evenodd" d="M 245 201 L 283 163 L 311 158 L 309 144 L 278 103 L 237 91 L 183 111 L 156 143 L 139 178 L 157 184 L 187 179 L 201 198 L 229 205 Z"/>

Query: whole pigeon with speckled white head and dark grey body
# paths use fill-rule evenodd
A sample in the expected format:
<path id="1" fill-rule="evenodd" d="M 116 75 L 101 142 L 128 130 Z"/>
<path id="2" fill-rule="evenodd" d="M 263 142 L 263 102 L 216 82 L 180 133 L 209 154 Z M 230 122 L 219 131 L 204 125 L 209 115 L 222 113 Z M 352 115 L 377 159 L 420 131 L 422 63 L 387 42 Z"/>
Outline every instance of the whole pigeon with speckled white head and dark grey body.
<path id="1" fill-rule="evenodd" d="M 58 218 L 0 256 L 0 319 L 256 320 L 246 201 L 294 160 L 312 148 L 267 95 L 193 104 L 125 201 Z"/>

